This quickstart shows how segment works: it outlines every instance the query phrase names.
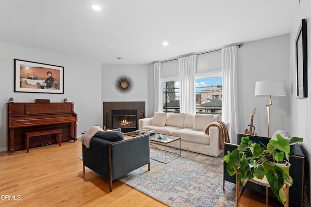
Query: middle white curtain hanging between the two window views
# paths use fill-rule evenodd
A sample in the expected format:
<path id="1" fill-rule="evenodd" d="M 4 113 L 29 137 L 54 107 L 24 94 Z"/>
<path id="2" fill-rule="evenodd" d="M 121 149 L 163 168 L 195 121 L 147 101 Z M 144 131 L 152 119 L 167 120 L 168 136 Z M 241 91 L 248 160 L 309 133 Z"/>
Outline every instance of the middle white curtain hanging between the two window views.
<path id="1" fill-rule="evenodd" d="M 196 56 L 178 58 L 181 113 L 195 113 Z"/>

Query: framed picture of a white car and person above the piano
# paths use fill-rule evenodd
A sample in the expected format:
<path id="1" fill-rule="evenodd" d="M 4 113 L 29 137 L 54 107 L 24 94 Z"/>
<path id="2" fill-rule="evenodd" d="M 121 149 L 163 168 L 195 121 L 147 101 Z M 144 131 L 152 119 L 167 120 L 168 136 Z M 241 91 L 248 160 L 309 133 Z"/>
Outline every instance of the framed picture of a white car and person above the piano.
<path id="1" fill-rule="evenodd" d="M 14 92 L 64 94 L 64 67 L 14 59 Z"/>

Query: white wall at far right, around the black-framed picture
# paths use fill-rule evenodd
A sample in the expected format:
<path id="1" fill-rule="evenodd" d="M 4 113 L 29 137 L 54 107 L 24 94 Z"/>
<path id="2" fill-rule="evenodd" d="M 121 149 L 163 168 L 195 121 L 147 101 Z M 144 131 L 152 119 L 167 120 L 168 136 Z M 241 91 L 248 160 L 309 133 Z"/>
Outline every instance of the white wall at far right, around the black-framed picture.
<path id="1" fill-rule="evenodd" d="M 301 19 L 307 21 L 307 47 L 308 47 L 308 97 L 297 99 L 296 98 L 296 58 L 295 58 L 295 38 L 298 28 L 301 24 Z M 302 147 L 305 150 L 305 155 L 309 162 L 311 160 L 311 1 L 300 0 L 300 7 L 297 6 L 293 26 L 290 34 L 290 80 L 291 80 L 291 131 L 292 136 L 303 137 L 304 141 Z M 310 172 L 310 163 L 306 163 L 306 168 Z M 307 195 L 310 203 L 311 192 L 309 182 L 309 193 Z"/>

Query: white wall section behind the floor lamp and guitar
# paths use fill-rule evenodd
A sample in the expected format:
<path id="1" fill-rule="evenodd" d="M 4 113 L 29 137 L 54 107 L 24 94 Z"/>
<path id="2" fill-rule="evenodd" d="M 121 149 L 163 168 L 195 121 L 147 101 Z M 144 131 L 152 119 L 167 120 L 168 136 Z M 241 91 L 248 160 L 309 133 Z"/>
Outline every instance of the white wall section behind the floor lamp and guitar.
<path id="1" fill-rule="evenodd" d="M 255 133 L 267 136 L 267 109 L 269 97 L 254 96 L 255 82 L 284 80 L 286 96 L 272 97 L 270 107 L 270 136 L 278 129 L 290 131 L 289 34 L 243 43 L 238 48 L 238 100 L 240 127 L 249 128 L 251 114 L 257 108 L 253 125 Z"/>

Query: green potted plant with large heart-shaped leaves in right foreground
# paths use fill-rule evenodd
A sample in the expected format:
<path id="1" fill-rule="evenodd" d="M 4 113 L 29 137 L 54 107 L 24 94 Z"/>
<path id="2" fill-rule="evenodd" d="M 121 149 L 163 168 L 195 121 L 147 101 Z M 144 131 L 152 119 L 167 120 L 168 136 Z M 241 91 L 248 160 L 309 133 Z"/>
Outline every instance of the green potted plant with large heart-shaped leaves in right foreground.
<path id="1" fill-rule="evenodd" d="M 251 141 L 249 136 L 242 137 L 238 149 L 232 152 L 228 151 L 224 157 L 224 161 L 228 163 L 227 172 L 231 176 L 237 174 L 237 180 L 243 186 L 255 176 L 259 179 L 266 176 L 271 190 L 284 205 L 286 201 L 283 190 L 284 182 L 286 180 L 290 185 L 292 183 L 289 178 L 289 169 L 284 171 L 280 168 L 279 163 L 285 162 L 286 167 L 289 168 L 290 145 L 302 141 L 303 138 L 299 137 L 286 140 L 277 134 L 276 140 L 270 139 L 267 146 L 263 147 L 263 144 Z M 268 167 L 266 164 L 268 160 L 274 162 L 275 165 Z"/>

